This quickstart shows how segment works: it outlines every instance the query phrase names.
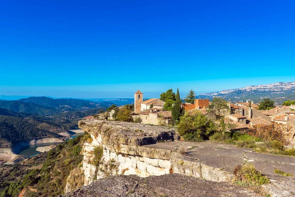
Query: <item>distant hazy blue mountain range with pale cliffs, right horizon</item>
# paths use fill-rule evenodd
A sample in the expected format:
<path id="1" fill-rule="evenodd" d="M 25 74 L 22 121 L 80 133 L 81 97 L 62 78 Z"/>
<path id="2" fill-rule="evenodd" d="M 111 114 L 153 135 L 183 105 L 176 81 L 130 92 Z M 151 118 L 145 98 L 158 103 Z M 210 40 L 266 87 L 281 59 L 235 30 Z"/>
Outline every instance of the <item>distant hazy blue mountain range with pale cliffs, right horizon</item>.
<path id="1" fill-rule="evenodd" d="M 276 104 L 282 104 L 285 100 L 295 100 L 295 82 L 277 82 L 267 85 L 247 86 L 244 88 L 222 90 L 220 92 L 201 94 L 198 99 L 213 99 L 221 97 L 232 102 L 241 102 L 251 99 L 260 102 L 264 98 L 275 100 Z"/>

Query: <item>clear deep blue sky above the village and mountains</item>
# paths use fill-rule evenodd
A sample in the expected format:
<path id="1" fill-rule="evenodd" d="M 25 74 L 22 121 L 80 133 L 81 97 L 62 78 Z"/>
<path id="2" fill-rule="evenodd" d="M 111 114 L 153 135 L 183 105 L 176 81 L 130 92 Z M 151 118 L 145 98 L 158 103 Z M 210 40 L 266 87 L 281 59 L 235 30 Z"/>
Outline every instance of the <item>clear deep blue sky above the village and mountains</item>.
<path id="1" fill-rule="evenodd" d="M 0 95 L 184 96 L 295 81 L 294 0 L 3 0 Z"/>

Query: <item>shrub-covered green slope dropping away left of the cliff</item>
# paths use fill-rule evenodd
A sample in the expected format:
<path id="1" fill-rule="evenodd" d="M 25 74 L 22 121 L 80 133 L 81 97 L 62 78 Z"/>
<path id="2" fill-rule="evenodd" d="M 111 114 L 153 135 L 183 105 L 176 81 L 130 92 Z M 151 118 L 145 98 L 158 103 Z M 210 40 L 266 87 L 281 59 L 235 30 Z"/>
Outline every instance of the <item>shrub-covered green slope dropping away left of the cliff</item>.
<path id="1" fill-rule="evenodd" d="M 67 177 L 73 169 L 82 170 L 80 155 L 89 134 L 59 144 L 55 149 L 31 157 L 22 164 L 0 165 L 0 197 L 56 197 L 64 193 Z M 76 187 L 84 185 L 81 177 Z"/>

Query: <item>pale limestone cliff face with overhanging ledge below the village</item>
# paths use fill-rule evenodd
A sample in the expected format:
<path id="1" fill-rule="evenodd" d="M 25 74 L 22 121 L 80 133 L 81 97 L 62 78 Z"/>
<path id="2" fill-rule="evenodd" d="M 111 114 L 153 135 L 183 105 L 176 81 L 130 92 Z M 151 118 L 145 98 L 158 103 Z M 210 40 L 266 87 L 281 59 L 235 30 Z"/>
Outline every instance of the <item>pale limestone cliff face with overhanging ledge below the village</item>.
<path id="1" fill-rule="evenodd" d="M 171 150 L 165 148 L 165 143 L 159 143 L 178 140 L 179 136 L 173 129 L 98 120 L 80 121 L 79 127 L 92 137 L 92 142 L 85 143 L 82 151 L 85 185 L 95 179 L 119 174 L 148 177 L 179 173 L 214 181 L 231 179 L 231 174 L 201 165 L 198 161 L 184 160 L 177 147 Z M 157 142 L 157 148 L 148 146 Z M 95 165 L 93 152 L 98 146 L 103 147 L 103 155 Z"/>

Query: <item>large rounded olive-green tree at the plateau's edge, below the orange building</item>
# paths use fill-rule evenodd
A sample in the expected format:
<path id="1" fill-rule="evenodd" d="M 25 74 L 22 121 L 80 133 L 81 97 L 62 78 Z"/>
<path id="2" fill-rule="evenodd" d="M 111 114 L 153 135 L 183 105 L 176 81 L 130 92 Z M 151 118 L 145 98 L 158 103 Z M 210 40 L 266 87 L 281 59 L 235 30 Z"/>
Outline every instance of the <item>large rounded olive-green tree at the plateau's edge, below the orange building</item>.
<path id="1" fill-rule="evenodd" d="M 207 119 L 207 116 L 201 112 L 194 114 L 186 113 L 180 118 L 177 125 L 178 133 L 188 141 L 202 141 L 214 132 L 216 129 L 213 121 Z"/>

